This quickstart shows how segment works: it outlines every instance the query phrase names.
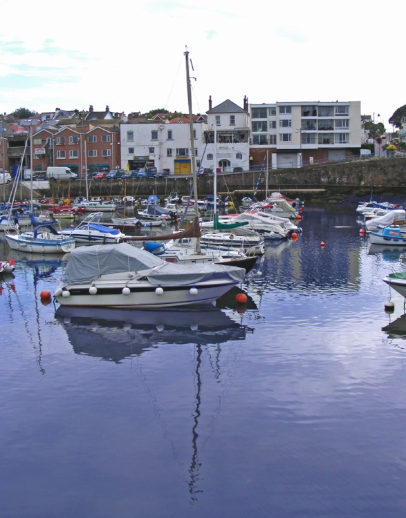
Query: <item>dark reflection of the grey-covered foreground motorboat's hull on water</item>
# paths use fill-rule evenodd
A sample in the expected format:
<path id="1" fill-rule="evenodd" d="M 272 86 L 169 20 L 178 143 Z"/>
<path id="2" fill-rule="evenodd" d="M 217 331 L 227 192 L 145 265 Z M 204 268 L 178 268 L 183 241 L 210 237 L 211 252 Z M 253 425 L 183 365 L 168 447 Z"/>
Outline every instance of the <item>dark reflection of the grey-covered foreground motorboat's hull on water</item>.
<path id="1" fill-rule="evenodd" d="M 116 363 L 159 343 L 207 345 L 246 338 L 246 327 L 214 306 L 165 310 L 60 306 L 55 318 L 76 354 Z"/>

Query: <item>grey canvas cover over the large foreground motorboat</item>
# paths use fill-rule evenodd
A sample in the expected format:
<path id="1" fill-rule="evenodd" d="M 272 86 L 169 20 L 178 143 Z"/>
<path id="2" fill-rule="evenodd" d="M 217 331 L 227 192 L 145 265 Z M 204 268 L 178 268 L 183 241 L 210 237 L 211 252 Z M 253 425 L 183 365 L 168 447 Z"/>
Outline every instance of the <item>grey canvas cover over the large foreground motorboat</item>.
<path id="1" fill-rule="evenodd" d="M 194 285 L 210 280 L 241 282 L 246 271 L 226 265 L 177 265 L 128 243 L 77 247 L 69 254 L 62 280 L 66 285 L 88 284 L 101 275 L 145 271 L 153 285 Z"/>

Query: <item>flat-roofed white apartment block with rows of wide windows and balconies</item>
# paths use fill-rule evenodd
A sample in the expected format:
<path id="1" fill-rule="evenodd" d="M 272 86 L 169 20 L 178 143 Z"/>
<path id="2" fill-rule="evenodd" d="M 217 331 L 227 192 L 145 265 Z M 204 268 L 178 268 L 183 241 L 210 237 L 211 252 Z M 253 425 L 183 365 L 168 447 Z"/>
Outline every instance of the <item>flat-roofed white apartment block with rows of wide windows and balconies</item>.
<path id="1" fill-rule="evenodd" d="M 250 120 L 250 152 L 273 169 L 360 153 L 360 101 L 250 104 Z"/>

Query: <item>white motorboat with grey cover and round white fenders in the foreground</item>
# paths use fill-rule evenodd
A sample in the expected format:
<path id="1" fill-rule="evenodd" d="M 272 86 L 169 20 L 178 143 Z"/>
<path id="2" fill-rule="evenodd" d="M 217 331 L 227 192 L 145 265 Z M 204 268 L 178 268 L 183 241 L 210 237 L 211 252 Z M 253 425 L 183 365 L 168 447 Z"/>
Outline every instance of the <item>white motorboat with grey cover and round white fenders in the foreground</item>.
<path id="1" fill-rule="evenodd" d="M 223 265 L 174 265 L 128 243 L 79 247 L 54 297 L 61 305 L 176 307 L 209 304 L 245 276 Z"/>

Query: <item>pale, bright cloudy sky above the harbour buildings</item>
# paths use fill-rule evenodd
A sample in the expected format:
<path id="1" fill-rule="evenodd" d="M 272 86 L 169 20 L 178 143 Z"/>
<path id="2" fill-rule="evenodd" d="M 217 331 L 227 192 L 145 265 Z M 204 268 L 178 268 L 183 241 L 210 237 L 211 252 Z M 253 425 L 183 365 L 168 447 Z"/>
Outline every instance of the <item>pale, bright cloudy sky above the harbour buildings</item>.
<path id="1" fill-rule="evenodd" d="M 396 84 L 396 8 L 371 1 L 0 0 L 0 113 L 25 107 L 188 112 L 252 104 L 360 101 L 388 119 Z M 400 48 L 401 36 L 398 40 Z M 379 116 L 378 116 L 379 114 Z"/>

